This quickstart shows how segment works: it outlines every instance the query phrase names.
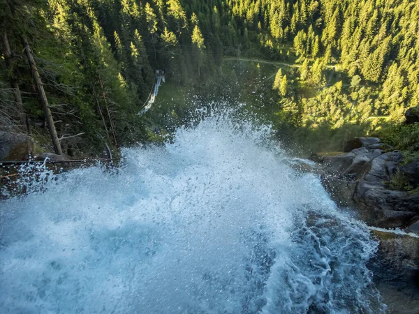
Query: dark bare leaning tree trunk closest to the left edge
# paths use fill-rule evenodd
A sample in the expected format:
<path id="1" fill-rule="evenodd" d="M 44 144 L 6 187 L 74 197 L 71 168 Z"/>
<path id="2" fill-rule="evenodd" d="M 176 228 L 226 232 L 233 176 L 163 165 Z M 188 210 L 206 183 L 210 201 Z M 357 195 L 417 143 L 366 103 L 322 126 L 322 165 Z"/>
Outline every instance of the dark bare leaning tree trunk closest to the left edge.
<path id="1" fill-rule="evenodd" d="M 13 89 L 13 96 L 15 98 L 15 106 L 17 107 L 17 112 L 19 112 L 19 120 L 22 128 L 28 133 L 31 134 L 31 127 L 29 126 L 29 119 L 27 114 L 23 109 L 22 95 L 20 94 L 19 84 L 17 84 L 13 73 L 11 73 L 11 61 L 12 61 L 12 52 L 10 50 L 10 45 L 8 43 L 7 33 L 3 33 L 3 47 L 4 47 L 4 61 L 6 63 L 6 68 L 9 71 L 8 78 L 10 80 L 10 86 Z"/>

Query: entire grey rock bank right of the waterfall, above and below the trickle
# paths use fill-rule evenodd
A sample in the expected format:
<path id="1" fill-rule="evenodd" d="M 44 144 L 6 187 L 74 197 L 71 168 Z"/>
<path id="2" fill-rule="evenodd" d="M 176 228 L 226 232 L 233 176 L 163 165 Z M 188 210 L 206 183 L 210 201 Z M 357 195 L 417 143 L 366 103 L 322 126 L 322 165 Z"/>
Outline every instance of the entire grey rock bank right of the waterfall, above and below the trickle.
<path id="1" fill-rule="evenodd" d="M 376 137 L 311 160 L 332 199 L 354 209 L 378 239 L 370 269 L 389 313 L 419 313 L 419 160 L 406 163 Z"/>

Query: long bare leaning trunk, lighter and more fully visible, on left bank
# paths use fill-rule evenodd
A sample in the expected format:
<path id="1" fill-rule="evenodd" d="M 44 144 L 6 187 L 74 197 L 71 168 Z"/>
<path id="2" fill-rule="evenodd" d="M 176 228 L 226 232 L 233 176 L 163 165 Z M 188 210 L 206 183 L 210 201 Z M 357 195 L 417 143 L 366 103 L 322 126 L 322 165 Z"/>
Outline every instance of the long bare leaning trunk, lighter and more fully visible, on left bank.
<path id="1" fill-rule="evenodd" d="M 55 128 L 54 119 L 52 118 L 50 105 L 48 105 L 47 95 L 45 94 L 42 80 L 41 80 L 41 77 L 39 76 L 38 68 L 36 67 L 34 54 L 32 53 L 31 47 L 29 46 L 28 40 L 25 36 L 22 36 L 22 44 L 27 54 L 29 66 L 31 67 L 32 77 L 34 78 L 36 90 L 38 91 L 38 96 L 39 96 L 39 99 L 41 100 L 41 105 L 45 112 L 45 118 L 47 120 L 47 126 L 48 126 L 48 130 L 50 131 L 52 145 L 54 146 L 55 154 L 62 155 L 63 153 L 61 150 L 61 144 L 59 142 L 59 138 L 57 135 L 57 129 Z"/>

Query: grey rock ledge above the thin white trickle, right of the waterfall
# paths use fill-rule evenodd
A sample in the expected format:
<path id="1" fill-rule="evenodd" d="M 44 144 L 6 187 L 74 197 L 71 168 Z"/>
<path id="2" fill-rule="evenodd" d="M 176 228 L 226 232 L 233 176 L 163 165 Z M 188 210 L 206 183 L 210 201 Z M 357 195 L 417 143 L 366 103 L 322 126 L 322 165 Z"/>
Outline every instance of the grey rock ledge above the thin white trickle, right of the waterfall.
<path id="1" fill-rule="evenodd" d="M 394 151 L 376 137 L 359 137 L 343 153 L 314 154 L 321 179 L 341 206 L 358 210 L 374 227 L 399 227 L 419 233 L 419 159 L 403 164 Z"/>

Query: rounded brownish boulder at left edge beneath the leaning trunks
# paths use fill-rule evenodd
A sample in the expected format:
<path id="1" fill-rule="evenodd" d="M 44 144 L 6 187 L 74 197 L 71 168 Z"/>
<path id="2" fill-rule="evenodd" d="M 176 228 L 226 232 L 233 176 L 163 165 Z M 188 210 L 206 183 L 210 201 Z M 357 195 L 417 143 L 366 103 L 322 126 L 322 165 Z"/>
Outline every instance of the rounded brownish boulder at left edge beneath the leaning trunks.
<path id="1" fill-rule="evenodd" d="M 0 131 L 0 161 L 27 160 L 34 151 L 34 141 L 28 135 Z"/>

